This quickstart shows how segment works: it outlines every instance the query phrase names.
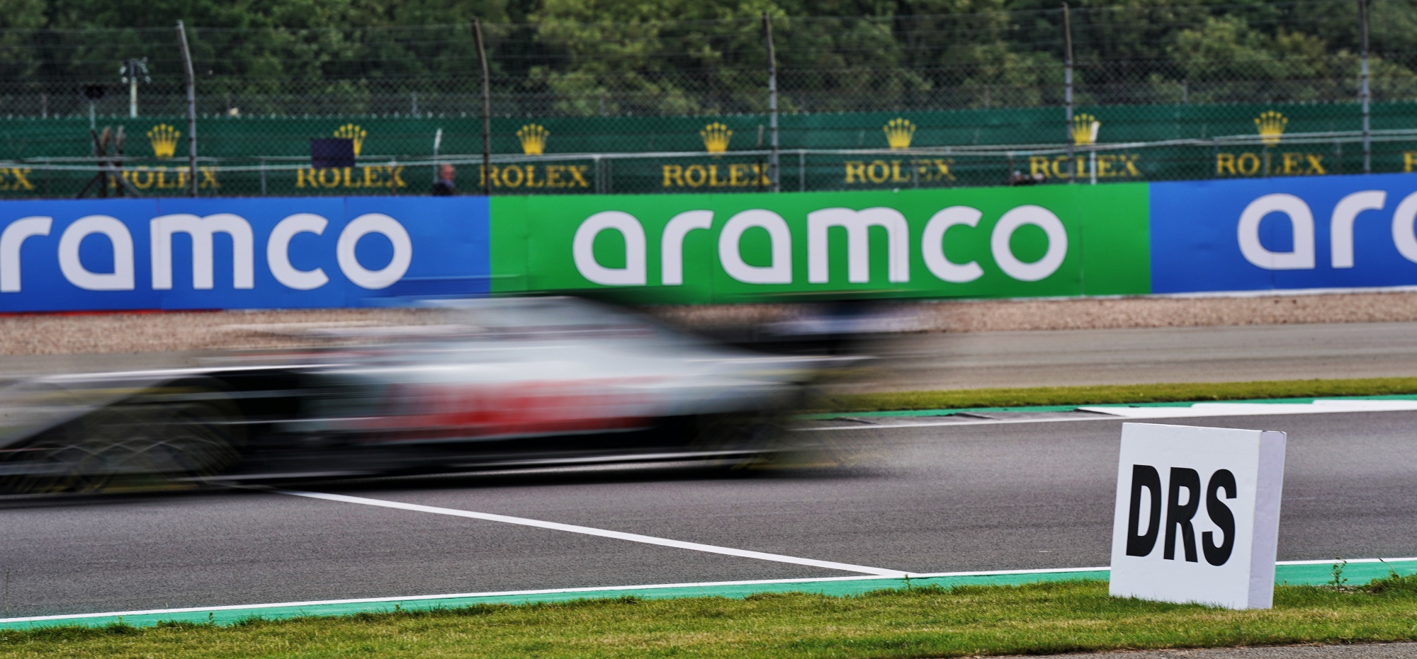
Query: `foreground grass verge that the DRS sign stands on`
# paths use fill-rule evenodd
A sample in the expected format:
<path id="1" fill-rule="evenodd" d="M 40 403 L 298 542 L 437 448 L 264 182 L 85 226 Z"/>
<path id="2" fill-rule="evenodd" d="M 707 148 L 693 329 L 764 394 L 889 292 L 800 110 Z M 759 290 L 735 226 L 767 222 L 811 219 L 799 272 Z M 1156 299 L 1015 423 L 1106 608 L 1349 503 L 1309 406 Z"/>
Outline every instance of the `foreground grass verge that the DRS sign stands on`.
<path id="1" fill-rule="evenodd" d="M 1413 639 L 1417 576 L 1362 588 L 1280 585 L 1268 611 L 1122 600 L 1105 581 L 1058 581 L 0 631 L 0 656 L 917 658 Z"/>

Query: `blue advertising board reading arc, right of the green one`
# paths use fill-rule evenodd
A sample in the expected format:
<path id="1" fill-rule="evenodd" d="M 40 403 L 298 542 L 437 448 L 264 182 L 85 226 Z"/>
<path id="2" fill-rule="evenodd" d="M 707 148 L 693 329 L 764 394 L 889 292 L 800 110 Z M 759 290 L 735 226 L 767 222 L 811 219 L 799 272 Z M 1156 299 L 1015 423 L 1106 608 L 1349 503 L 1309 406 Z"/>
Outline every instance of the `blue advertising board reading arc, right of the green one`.
<path id="1" fill-rule="evenodd" d="M 1417 286 L 1417 175 L 1151 184 L 1152 293 Z"/>

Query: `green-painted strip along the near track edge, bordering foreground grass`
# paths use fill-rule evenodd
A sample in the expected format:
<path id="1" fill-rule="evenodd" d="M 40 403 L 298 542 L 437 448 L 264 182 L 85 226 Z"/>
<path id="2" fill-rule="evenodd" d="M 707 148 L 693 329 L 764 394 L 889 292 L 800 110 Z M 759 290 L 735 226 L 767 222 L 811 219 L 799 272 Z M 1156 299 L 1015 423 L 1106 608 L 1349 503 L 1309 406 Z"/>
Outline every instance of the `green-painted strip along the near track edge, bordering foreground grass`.
<path id="1" fill-rule="evenodd" d="M 1348 585 L 1366 584 L 1374 578 L 1397 574 L 1417 574 L 1417 559 L 1391 560 L 1387 563 L 1349 563 L 1343 568 L 1343 578 Z M 472 595 L 472 597 L 439 597 L 427 600 L 385 600 L 359 601 L 344 604 L 313 604 L 293 607 L 242 607 L 230 610 L 194 610 L 167 614 L 143 615 L 102 615 L 92 618 L 55 618 L 27 622 L 0 622 L 6 629 L 28 629 L 35 626 L 103 626 L 123 622 L 133 626 L 150 626 L 157 622 L 214 622 L 230 625 L 249 618 L 282 619 L 299 617 L 332 617 L 353 615 L 361 612 L 390 612 L 395 610 L 439 610 L 462 608 L 476 604 L 536 604 L 563 602 L 574 600 L 614 600 L 619 597 L 639 597 L 652 600 L 682 598 L 682 597 L 727 597 L 744 598 L 758 593 L 819 593 L 825 595 L 859 595 L 877 590 L 920 588 L 928 585 L 1022 585 L 1041 581 L 1105 581 L 1108 570 L 1076 570 L 1076 571 L 1046 571 L 1026 574 L 958 574 L 945 577 L 920 577 L 908 583 L 903 578 L 853 578 L 853 580 L 819 580 L 792 583 L 748 583 L 723 585 L 670 585 L 646 588 L 604 588 L 581 590 L 571 593 L 537 593 L 520 595 Z M 1332 566 L 1322 564 L 1281 564 L 1275 567 L 1275 583 L 1287 585 L 1323 585 L 1333 578 Z"/>

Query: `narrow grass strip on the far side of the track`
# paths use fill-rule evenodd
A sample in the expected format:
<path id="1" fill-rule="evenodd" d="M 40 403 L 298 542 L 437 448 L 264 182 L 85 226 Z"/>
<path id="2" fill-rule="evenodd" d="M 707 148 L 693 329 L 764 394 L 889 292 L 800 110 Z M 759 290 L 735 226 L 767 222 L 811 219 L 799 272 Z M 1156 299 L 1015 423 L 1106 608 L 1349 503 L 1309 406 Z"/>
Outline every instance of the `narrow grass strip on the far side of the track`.
<path id="1" fill-rule="evenodd" d="M 1049 404 L 1390 396 L 1401 393 L 1417 393 L 1417 378 L 1039 386 L 1022 389 L 847 393 L 826 396 L 818 402 L 816 407 L 822 412 L 947 410 L 964 407 L 1024 407 Z"/>

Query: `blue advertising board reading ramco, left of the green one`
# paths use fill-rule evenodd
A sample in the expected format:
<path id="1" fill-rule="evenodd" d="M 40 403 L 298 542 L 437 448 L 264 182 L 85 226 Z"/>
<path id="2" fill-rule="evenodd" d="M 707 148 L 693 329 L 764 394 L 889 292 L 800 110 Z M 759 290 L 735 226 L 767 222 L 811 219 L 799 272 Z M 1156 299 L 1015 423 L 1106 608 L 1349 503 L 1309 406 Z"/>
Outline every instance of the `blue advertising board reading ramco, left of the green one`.
<path id="1" fill-rule="evenodd" d="M 480 197 L 0 204 L 0 313 L 368 307 L 486 294 Z"/>

